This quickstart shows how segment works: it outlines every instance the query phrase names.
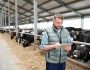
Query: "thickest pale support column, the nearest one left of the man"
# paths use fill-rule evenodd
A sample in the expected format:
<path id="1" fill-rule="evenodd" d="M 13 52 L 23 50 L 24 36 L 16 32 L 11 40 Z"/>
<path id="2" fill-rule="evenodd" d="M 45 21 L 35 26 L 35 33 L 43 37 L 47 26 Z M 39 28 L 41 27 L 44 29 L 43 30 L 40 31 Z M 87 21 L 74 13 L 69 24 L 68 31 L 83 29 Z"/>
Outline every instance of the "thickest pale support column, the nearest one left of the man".
<path id="1" fill-rule="evenodd" d="M 34 42 L 37 41 L 37 0 L 33 0 L 34 4 Z"/>

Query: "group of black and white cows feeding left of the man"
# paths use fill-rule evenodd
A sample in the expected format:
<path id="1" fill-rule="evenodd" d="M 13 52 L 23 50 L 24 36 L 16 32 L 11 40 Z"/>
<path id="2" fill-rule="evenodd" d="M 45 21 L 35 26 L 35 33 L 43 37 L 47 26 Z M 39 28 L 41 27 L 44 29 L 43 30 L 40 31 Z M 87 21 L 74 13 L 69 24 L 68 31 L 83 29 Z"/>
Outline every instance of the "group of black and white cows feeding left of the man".
<path id="1" fill-rule="evenodd" d="M 39 35 L 42 35 L 42 32 L 44 32 L 44 30 L 38 29 L 37 32 L 37 40 L 40 42 L 41 36 Z M 13 39 L 14 36 L 16 36 L 16 32 L 11 32 L 11 39 Z M 22 43 L 23 47 L 28 47 L 31 43 L 34 42 L 34 30 L 32 28 L 29 30 L 20 30 L 18 35 L 16 36 L 16 42 L 18 42 L 19 44 Z"/>

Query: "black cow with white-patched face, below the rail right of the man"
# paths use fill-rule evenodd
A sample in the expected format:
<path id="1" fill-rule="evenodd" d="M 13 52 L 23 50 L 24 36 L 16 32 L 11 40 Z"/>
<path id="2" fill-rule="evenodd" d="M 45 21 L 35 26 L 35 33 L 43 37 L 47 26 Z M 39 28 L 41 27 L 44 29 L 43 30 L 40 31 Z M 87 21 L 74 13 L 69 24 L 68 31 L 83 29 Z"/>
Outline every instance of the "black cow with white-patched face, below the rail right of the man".
<path id="1" fill-rule="evenodd" d="M 90 43 L 90 37 L 87 36 L 86 39 L 86 43 Z M 88 62 L 90 60 L 90 46 L 73 44 L 70 52 L 72 58 L 81 59 L 84 62 Z"/>

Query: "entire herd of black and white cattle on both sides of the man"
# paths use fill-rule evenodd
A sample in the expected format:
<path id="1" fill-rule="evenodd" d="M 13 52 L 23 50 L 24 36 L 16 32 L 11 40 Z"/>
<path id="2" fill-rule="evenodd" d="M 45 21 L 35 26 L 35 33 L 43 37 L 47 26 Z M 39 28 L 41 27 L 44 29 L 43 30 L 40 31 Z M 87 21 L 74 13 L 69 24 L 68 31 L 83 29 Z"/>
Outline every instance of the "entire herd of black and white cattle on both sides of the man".
<path id="1" fill-rule="evenodd" d="M 80 28 L 73 28 L 67 27 L 66 28 L 71 38 L 74 41 L 80 41 L 85 43 L 90 43 L 90 31 L 85 31 Z M 4 33 L 3 31 L 0 31 Z M 34 42 L 34 30 L 31 28 L 28 31 L 20 30 L 16 38 L 16 42 L 19 44 L 22 43 L 23 47 L 29 46 L 31 43 Z M 44 30 L 38 29 L 38 35 L 42 35 Z M 27 34 L 28 33 L 28 34 Z M 11 39 L 16 36 L 16 32 L 11 32 Z M 41 36 L 37 36 L 37 40 L 41 41 Z M 68 56 L 73 59 L 83 60 L 83 62 L 90 61 L 90 46 L 88 45 L 81 45 L 73 43 L 71 46 L 71 51 L 68 53 Z"/>

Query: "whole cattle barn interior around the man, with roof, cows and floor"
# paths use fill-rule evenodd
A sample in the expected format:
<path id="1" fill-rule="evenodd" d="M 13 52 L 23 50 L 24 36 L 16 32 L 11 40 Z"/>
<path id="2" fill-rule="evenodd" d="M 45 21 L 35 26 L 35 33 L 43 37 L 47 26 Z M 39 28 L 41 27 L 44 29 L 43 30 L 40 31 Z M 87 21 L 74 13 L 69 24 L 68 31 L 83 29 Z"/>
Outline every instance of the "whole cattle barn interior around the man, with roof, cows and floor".
<path id="1" fill-rule="evenodd" d="M 0 70 L 46 70 L 40 44 L 57 13 L 71 37 L 66 70 L 90 70 L 90 0 L 0 0 Z"/>

